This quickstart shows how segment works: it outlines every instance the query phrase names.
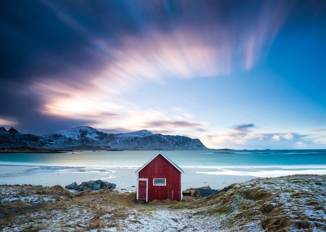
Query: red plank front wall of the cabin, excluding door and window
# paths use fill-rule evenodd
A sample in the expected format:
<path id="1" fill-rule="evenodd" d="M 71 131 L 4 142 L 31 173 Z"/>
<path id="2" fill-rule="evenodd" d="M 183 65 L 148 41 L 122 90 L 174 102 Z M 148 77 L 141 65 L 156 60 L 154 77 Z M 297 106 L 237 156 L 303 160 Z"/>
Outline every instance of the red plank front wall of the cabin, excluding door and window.
<path id="1" fill-rule="evenodd" d="M 138 174 L 138 178 L 148 178 L 148 201 L 181 200 L 181 172 L 163 156 L 156 156 Z M 154 178 L 166 178 L 166 186 L 153 186 Z"/>

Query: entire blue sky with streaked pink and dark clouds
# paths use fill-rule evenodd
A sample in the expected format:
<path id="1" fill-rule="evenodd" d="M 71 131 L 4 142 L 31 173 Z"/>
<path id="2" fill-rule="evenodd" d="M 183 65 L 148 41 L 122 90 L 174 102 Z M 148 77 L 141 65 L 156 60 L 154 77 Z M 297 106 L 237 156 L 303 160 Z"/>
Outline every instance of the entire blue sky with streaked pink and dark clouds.
<path id="1" fill-rule="evenodd" d="M 0 1 L 0 126 L 326 149 L 326 1 Z"/>

